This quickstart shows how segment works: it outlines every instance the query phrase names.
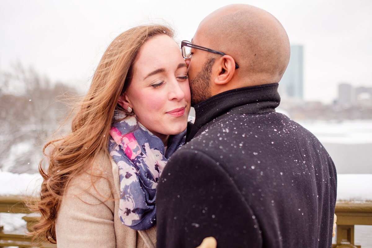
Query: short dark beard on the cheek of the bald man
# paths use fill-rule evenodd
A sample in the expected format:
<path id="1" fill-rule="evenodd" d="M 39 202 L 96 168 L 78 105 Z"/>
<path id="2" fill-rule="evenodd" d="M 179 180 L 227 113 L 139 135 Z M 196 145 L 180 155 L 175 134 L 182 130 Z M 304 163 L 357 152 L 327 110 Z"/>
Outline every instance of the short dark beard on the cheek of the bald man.
<path id="1" fill-rule="evenodd" d="M 212 66 L 215 58 L 209 58 L 203 65 L 202 69 L 190 81 L 191 106 L 203 102 L 212 96 L 209 81 L 211 80 Z"/>

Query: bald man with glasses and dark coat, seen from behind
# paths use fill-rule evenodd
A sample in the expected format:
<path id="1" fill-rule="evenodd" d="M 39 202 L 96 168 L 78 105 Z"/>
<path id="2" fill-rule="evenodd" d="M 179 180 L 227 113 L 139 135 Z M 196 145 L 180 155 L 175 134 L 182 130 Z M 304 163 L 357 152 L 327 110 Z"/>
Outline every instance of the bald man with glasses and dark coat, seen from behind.
<path id="1" fill-rule="evenodd" d="M 157 247 L 331 247 L 336 169 L 317 138 L 276 113 L 288 36 L 270 13 L 222 7 L 182 42 L 195 104 L 189 142 L 157 191 Z"/>

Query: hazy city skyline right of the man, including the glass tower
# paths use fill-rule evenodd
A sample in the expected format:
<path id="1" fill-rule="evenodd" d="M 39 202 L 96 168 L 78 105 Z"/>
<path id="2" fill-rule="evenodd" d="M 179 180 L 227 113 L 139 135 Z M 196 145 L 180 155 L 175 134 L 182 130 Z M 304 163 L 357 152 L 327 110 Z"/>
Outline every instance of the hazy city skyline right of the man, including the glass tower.
<path id="1" fill-rule="evenodd" d="M 304 56 L 303 45 L 291 45 L 289 64 L 279 82 L 279 111 L 295 120 L 372 119 L 372 87 L 355 87 L 351 83 L 340 82 L 337 98 L 330 104 L 305 101 Z"/>

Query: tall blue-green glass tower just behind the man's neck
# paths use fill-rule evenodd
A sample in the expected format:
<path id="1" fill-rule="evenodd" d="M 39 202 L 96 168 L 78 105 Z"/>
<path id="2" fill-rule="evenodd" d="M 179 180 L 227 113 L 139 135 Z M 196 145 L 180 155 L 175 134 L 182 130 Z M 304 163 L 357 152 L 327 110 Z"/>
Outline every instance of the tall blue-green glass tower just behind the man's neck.
<path id="1" fill-rule="evenodd" d="M 291 45 L 291 57 L 287 70 L 279 82 L 279 94 L 283 99 L 303 99 L 304 47 Z"/>

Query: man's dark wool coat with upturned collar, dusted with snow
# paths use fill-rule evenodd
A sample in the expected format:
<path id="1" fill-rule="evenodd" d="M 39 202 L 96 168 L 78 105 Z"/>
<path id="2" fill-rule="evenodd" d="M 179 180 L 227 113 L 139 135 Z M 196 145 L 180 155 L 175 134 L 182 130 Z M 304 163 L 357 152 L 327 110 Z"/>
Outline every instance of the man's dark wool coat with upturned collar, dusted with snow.
<path id="1" fill-rule="evenodd" d="M 276 113 L 278 84 L 195 106 L 191 139 L 157 189 L 157 247 L 331 247 L 337 178 L 308 130 Z"/>

